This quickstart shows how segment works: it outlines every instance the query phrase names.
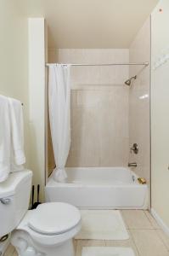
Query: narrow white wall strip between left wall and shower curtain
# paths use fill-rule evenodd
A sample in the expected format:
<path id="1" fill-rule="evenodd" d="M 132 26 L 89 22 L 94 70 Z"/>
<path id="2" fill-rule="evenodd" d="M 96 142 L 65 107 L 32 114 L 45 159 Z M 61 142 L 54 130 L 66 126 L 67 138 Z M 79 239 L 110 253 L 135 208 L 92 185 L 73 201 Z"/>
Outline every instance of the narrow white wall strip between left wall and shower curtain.
<path id="1" fill-rule="evenodd" d="M 33 183 L 41 185 L 40 199 L 45 184 L 45 20 L 29 18 L 29 167 L 34 173 Z M 45 96 L 46 95 L 46 96 Z M 37 198 L 37 197 L 36 197 Z"/>

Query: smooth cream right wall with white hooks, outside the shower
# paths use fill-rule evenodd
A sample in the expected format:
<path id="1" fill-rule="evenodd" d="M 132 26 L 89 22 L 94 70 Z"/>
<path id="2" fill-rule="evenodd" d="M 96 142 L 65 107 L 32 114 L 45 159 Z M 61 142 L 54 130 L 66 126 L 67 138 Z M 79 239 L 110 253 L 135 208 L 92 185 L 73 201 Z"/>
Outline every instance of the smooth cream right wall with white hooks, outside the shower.
<path id="1" fill-rule="evenodd" d="M 160 12 L 159 10 L 162 9 Z M 169 234 L 169 61 L 155 68 L 169 54 L 169 1 L 162 0 L 152 13 L 152 208 Z"/>

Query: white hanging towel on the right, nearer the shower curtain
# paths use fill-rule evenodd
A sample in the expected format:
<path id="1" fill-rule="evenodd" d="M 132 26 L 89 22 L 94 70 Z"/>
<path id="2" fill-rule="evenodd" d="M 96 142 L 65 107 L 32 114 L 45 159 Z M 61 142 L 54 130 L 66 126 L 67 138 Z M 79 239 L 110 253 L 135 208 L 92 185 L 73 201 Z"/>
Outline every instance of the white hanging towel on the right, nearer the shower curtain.
<path id="1" fill-rule="evenodd" d="M 11 172 L 20 171 L 25 164 L 23 113 L 20 101 L 8 98 L 11 121 Z"/>

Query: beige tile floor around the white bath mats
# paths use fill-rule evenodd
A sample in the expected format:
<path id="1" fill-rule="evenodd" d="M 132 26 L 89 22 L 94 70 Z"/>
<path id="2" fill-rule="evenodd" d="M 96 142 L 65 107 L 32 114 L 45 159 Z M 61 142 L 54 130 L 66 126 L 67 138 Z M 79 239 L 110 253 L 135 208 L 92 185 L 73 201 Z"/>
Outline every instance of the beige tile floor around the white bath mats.
<path id="1" fill-rule="evenodd" d="M 121 213 L 130 239 L 123 241 L 77 240 L 75 241 L 76 256 L 81 256 L 82 247 L 90 246 L 132 247 L 135 256 L 169 256 L 169 237 L 156 224 L 149 212 L 122 210 Z M 8 247 L 4 256 L 17 256 L 14 247 Z"/>

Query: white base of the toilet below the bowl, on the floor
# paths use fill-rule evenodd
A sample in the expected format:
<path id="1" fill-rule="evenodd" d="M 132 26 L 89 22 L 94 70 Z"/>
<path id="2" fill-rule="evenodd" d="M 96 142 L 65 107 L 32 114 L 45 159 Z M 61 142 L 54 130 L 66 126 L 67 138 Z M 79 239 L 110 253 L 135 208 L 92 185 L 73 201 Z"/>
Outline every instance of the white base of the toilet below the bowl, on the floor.
<path id="1" fill-rule="evenodd" d="M 11 243 L 19 256 L 75 256 L 72 239 L 54 246 L 43 246 L 32 241 L 27 232 L 15 230 L 12 233 Z"/>

